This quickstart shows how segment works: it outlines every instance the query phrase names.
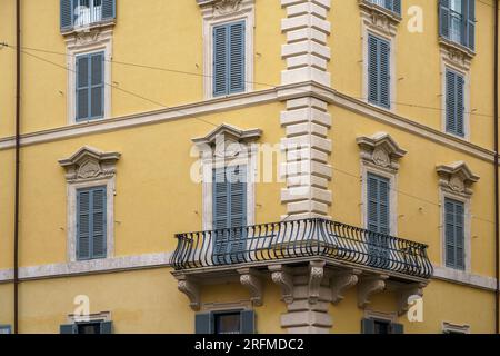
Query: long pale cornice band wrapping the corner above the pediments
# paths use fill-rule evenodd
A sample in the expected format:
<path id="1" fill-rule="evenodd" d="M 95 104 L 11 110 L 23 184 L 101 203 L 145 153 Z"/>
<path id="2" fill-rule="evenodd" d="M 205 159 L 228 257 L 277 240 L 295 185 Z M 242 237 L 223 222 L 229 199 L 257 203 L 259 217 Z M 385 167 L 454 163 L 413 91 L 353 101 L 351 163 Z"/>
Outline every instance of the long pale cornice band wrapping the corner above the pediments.
<path id="1" fill-rule="evenodd" d="M 459 138 L 454 138 L 450 135 L 414 122 L 396 113 L 388 112 L 383 109 L 374 108 L 361 100 L 354 99 L 344 93 L 340 93 L 334 89 L 312 82 L 277 86 L 273 89 L 259 90 L 249 93 L 231 96 L 228 98 L 210 99 L 169 109 L 141 112 L 108 120 L 74 126 L 64 126 L 57 129 L 26 134 L 21 136 L 21 146 L 64 140 L 79 136 L 116 131 L 120 129 L 154 125 L 171 120 L 190 118 L 193 119 L 198 116 L 230 111 L 254 105 L 284 101 L 291 98 L 306 96 L 316 97 L 329 103 L 337 105 L 350 111 L 360 113 L 364 117 L 391 125 L 412 135 L 417 135 L 432 140 L 437 144 L 460 150 L 469 156 L 473 156 L 489 162 L 493 161 L 494 152 L 489 149 L 468 141 L 463 141 Z M 0 150 L 11 149 L 14 147 L 14 144 L 16 141 L 13 137 L 2 138 L 0 139 Z"/>

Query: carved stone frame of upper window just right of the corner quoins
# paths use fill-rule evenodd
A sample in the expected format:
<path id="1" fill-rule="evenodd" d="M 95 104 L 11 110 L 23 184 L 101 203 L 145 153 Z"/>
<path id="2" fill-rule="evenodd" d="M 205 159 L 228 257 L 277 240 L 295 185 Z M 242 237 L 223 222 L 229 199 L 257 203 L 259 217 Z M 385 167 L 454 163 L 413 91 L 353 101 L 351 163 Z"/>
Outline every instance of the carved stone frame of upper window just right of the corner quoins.
<path id="1" fill-rule="evenodd" d="M 364 98 L 366 102 L 370 106 L 373 106 L 376 108 L 382 109 L 382 110 L 389 110 L 391 112 L 394 112 L 396 106 L 393 102 L 396 102 L 396 58 L 397 58 L 397 46 L 396 46 L 396 34 L 398 30 L 398 24 L 401 21 L 401 18 L 396 16 L 389 10 L 386 10 L 379 6 L 376 6 L 369 1 L 360 0 L 359 6 L 361 9 L 361 43 L 362 43 L 362 67 L 363 67 L 363 75 L 362 75 L 362 97 Z M 368 65 L 369 65 L 369 53 L 368 53 L 368 37 L 369 34 L 377 36 L 379 38 L 382 38 L 390 43 L 390 108 L 386 109 L 382 107 L 379 107 L 377 105 L 370 103 L 368 100 Z"/>

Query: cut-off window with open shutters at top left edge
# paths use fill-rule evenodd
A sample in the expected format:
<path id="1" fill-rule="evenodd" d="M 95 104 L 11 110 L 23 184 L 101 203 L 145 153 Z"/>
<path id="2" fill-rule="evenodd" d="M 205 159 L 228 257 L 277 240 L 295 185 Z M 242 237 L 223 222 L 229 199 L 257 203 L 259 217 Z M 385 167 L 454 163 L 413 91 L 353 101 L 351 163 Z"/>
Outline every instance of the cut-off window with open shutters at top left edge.
<path id="1" fill-rule="evenodd" d="M 116 0 L 61 0 L 61 31 L 113 21 Z"/>

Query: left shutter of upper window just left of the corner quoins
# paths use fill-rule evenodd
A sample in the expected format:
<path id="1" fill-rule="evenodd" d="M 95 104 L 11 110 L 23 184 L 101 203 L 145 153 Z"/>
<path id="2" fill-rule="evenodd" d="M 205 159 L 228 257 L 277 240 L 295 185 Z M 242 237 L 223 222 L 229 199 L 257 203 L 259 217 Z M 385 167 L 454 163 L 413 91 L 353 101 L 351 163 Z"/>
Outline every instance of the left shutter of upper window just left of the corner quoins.
<path id="1" fill-rule="evenodd" d="M 228 27 L 213 28 L 213 96 L 228 93 Z"/>

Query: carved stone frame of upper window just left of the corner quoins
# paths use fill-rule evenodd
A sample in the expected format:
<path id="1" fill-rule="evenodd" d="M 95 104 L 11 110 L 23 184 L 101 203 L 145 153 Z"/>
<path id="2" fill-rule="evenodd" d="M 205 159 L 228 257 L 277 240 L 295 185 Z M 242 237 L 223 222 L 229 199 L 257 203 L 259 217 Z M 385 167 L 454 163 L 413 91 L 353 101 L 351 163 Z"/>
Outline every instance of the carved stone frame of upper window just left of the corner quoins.
<path id="1" fill-rule="evenodd" d="M 254 0 L 197 0 L 203 17 L 203 91 L 206 99 L 213 97 L 213 27 L 244 21 L 244 91 L 253 90 L 253 29 L 256 26 Z M 233 95 L 231 95 L 233 96 Z"/>

